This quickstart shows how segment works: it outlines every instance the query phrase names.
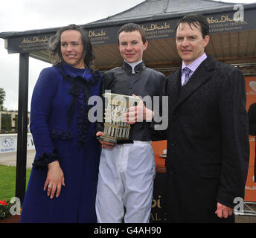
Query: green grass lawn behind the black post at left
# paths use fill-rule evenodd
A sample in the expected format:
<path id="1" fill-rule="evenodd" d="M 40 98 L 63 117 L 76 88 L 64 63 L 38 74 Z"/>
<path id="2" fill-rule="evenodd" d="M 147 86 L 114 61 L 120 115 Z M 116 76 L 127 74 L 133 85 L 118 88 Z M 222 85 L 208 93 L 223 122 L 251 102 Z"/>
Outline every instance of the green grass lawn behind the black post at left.
<path id="1" fill-rule="evenodd" d="M 27 169 L 26 187 L 31 175 L 31 169 Z M 0 200 L 10 200 L 15 196 L 16 187 L 16 167 L 0 164 Z"/>

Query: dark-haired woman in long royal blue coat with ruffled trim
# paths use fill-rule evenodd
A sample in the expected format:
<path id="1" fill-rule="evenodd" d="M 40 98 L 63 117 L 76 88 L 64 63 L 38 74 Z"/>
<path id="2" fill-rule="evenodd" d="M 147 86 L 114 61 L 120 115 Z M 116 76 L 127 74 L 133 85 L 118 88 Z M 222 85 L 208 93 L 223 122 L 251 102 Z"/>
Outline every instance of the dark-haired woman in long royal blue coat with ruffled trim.
<path id="1" fill-rule="evenodd" d="M 36 156 L 21 222 L 97 222 L 95 194 L 100 147 L 88 118 L 100 92 L 88 34 L 68 25 L 49 40 L 57 64 L 42 70 L 31 101 Z"/>

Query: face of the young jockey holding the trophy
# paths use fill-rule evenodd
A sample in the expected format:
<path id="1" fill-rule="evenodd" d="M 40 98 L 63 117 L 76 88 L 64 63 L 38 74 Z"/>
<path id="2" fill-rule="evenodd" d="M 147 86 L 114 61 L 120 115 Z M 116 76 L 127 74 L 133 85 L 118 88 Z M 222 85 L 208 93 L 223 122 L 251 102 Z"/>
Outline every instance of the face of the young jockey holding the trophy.
<path id="1" fill-rule="evenodd" d="M 122 31 L 119 34 L 119 50 L 121 57 L 126 62 L 142 60 L 143 51 L 147 49 L 147 44 L 147 42 L 143 44 L 141 33 L 138 30 L 132 32 Z"/>

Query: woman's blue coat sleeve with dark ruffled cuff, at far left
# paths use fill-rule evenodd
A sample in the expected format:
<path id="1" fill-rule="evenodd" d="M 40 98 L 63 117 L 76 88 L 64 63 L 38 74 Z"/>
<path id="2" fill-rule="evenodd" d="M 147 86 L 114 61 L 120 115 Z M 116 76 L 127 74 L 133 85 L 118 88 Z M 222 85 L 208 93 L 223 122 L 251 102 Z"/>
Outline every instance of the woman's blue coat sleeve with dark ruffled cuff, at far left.
<path id="1" fill-rule="evenodd" d="M 33 167 L 45 167 L 59 159 L 48 127 L 54 95 L 57 92 L 60 75 L 51 68 L 45 68 L 39 75 L 31 100 L 31 134 L 36 147 Z"/>

